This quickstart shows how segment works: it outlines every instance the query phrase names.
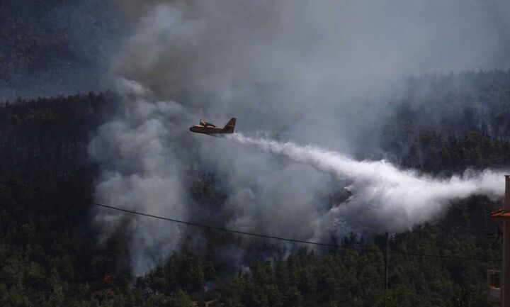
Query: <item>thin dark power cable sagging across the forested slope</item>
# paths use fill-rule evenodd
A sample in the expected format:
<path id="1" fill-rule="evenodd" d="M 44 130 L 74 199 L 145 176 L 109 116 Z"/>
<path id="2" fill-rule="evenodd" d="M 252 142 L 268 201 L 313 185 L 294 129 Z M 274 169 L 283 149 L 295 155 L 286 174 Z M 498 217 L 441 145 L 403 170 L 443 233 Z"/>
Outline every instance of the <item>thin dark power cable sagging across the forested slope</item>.
<path id="1" fill-rule="evenodd" d="M 121 211 L 121 212 L 125 212 L 125 213 L 135 214 L 135 215 L 138 215 L 138 216 L 146 216 L 148 218 L 157 218 L 159 220 L 170 221 L 170 222 L 173 222 L 173 223 L 179 223 L 179 224 L 188 225 L 188 226 L 195 226 L 195 227 L 199 227 L 199 228 L 205 228 L 205 229 L 208 229 L 208 230 L 217 230 L 217 231 L 223 231 L 223 232 L 227 232 L 227 233 L 236 233 L 236 234 L 239 234 L 239 235 L 249 235 L 249 236 L 252 236 L 252 237 L 274 239 L 274 240 L 294 242 L 294 243 L 301 243 L 301 244 L 307 244 L 307 245 L 318 245 L 318 246 L 325 246 L 325 247 L 335 247 L 335 248 L 339 248 L 341 250 L 359 250 L 359 251 L 364 251 L 364 252 L 380 252 L 380 253 L 385 252 L 383 250 L 374 250 L 374 249 L 370 249 L 370 248 L 343 247 L 341 245 L 331 244 L 331 243 L 326 243 L 326 242 L 315 242 L 315 241 L 283 238 L 283 237 L 278 237 L 276 235 L 263 235 L 261 233 L 250 233 L 250 232 L 242 231 L 242 230 L 234 230 L 234 229 L 222 228 L 222 227 L 217 227 L 217 226 L 212 226 L 212 225 L 205 225 L 205 224 L 201 224 L 201 223 L 194 223 L 194 222 L 190 222 L 190 221 L 182 221 L 182 220 L 178 220 L 176 218 L 166 218 L 164 216 L 155 216 L 155 215 L 149 214 L 149 213 L 143 213 L 143 212 L 128 210 L 128 209 L 124 209 L 124 208 L 118 208 L 118 207 L 115 207 L 115 206 L 108 206 L 108 205 L 105 205 L 103 203 L 96 203 L 94 201 L 84 201 L 84 200 L 81 200 L 81 199 L 72 199 L 72 198 L 70 198 L 68 196 L 64 196 L 62 194 L 57 194 L 57 193 L 53 193 L 53 192 L 50 192 L 50 191 L 44 191 L 42 189 L 36 189 L 36 188 L 31 187 L 31 186 L 26 186 L 24 184 L 17 184 L 17 183 L 14 183 L 14 182 L 4 182 L 4 181 L 0 181 L 0 184 L 4 184 L 4 185 L 8 185 L 8 186 L 18 186 L 18 187 L 23 188 L 23 189 L 27 189 L 27 190 L 30 190 L 30 191 L 35 191 L 35 192 L 40 193 L 40 194 L 47 194 L 47 195 L 54 196 L 54 197 L 57 197 L 57 198 L 60 198 L 60 199 L 65 199 L 67 201 L 72 201 L 72 202 L 75 202 L 75 203 L 82 203 L 82 204 L 87 204 L 87 205 L 91 205 L 91 206 L 98 206 L 98 207 L 101 207 L 101 208 L 108 208 L 108 209 L 115 210 L 115 211 Z M 446 256 L 446 255 L 431 255 L 431 254 L 422 254 L 422 253 L 416 253 L 416 252 L 390 251 L 389 253 L 393 254 L 393 255 L 409 255 L 409 256 L 416 256 L 416 257 L 432 257 L 432 258 L 441 258 L 441 259 L 476 260 L 476 261 L 489 261 L 489 262 L 501 262 L 502 261 L 502 259 L 487 259 L 487 258 L 475 258 L 475 257 L 456 257 L 456 256 Z"/>

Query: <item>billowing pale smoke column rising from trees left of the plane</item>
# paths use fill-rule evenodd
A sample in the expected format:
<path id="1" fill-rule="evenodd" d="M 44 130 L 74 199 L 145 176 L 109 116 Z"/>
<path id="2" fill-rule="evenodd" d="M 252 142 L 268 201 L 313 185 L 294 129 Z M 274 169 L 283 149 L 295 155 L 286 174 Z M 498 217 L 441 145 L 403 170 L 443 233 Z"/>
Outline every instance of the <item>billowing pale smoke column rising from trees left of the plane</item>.
<path id="1" fill-rule="evenodd" d="M 183 116 L 179 104 L 146 101 L 147 89 L 137 82 L 120 79 L 124 113 L 102 125 L 89 144 L 89 155 L 102 167 L 96 186 L 101 203 L 135 211 L 187 218 L 186 189 L 183 186 L 182 157 L 171 140 L 180 130 L 172 130 L 173 116 Z M 98 211 L 96 222 L 105 233 L 120 225 L 118 212 Z M 133 218 L 130 228 L 132 268 L 136 275 L 147 272 L 171 250 L 179 246 L 176 225 L 147 218 Z"/>

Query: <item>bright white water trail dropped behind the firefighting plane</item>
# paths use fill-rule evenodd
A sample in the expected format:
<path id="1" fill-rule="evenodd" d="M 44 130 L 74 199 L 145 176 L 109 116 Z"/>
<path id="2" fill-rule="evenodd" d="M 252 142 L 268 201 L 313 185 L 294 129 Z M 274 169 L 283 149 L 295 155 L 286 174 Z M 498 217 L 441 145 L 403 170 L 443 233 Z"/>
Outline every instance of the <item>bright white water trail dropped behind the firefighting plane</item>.
<path id="1" fill-rule="evenodd" d="M 282 155 L 293 162 L 309 164 L 336 179 L 348 179 L 351 184 L 347 189 L 353 193 L 351 199 L 329 212 L 336 222 L 338 235 L 349 231 L 402 232 L 442 216 L 452 200 L 475 194 L 493 198 L 504 194 L 505 173 L 490 169 L 436 179 L 414 170 L 398 169 L 389 162 L 360 162 L 313 146 L 248 138 L 240 133 L 227 138 Z"/>

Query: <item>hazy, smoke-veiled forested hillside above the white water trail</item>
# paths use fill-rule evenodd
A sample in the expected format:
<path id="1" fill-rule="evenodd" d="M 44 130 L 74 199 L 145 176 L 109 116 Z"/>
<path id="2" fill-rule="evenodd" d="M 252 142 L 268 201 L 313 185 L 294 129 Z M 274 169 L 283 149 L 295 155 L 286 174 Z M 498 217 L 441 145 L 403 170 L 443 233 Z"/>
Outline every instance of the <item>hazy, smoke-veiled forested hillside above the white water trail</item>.
<path id="1" fill-rule="evenodd" d="M 403 94 L 390 104 L 395 112 L 383 129 L 380 146 L 400 158 L 424 130 L 436 130 L 443 138 L 464 138 L 470 131 L 494 139 L 510 137 L 510 71 L 409 78 Z"/>

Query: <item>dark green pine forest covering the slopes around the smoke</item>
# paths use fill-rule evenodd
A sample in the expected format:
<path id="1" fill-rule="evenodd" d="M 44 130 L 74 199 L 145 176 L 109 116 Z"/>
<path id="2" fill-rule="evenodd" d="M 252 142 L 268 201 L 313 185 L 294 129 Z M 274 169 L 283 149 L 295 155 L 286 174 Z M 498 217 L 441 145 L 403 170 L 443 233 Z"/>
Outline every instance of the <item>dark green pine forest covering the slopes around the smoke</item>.
<path id="1" fill-rule="evenodd" d="M 412 89 L 395 101 L 382 142 L 394 162 L 437 176 L 510 166 L 510 72 L 409 82 L 434 94 Z M 382 306 L 384 235 L 338 238 L 328 249 L 296 245 L 225 274 L 215 244 L 238 241 L 211 231 L 207 252 L 185 242 L 133 276 L 128 234 L 100 239 L 91 221 L 99 209 L 80 202 L 94 201 L 98 175 L 87 144 L 117 102 L 105 92 L 0 104 L 0 306 Z M 417 115 L 424 112 L 435 114 Z M 198 178 L 194 197 L 220 202 L 213 174 Z M 502 240 L 488 214 L 501 204 L 459 199 L 440 221 L 390 235 L 387 306 L 488 306 L 487 269 L 499 268 Z"/>

